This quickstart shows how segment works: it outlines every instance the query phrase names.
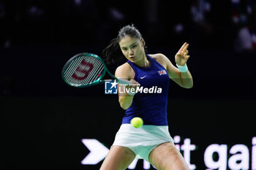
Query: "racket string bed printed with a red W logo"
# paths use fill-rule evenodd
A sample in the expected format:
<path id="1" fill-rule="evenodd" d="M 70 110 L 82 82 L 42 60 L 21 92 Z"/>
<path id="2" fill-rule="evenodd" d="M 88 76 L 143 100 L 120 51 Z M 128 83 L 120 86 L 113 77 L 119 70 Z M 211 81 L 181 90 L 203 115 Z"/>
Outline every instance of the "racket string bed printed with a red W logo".
<path id="1" fill-rule="evenodd" d="M 69 64 L 64 72 L 64 78 L 73 85 L 88 85 L 91 82 L 97 81 L 103 71 L 104 64 L 98 58 L 81 55 Z"/>

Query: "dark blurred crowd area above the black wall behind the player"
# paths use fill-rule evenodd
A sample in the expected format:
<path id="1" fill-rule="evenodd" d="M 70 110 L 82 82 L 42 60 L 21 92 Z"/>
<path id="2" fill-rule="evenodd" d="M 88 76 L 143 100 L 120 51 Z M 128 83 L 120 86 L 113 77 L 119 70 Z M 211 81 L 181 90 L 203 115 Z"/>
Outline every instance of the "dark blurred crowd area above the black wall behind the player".
<path id="1" fill-rule="evenodd" d="M 1 47 L 105 47 L 131 23 L 149 46 L 256 49 L 255 0 L 0 0 Z"/>

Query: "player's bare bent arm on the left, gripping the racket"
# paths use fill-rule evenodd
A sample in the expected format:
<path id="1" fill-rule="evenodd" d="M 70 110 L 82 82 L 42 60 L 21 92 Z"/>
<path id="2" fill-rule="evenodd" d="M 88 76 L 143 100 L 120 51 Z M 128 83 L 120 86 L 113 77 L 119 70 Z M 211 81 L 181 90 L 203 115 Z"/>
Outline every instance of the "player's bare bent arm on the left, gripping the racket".
<path id="1" fill-rule="evenodd" d="M 118 101 L 123 109 L 128 109 L 132 104 L 133 96 L 129 95 L 125 88 L 135 88 L 138 86 L 138 82 L 134 80 L 135 72 L 129 66 L 129 63 L 124 63 L 121 66 L 118 66 L 115 72 L 115 77 L 121 78 L 124 80 L 129 80 L 132 82 L 132 85 L 121 85 L 118 83 Z M 120 90 L 120 91 L 119 91 Z"/>

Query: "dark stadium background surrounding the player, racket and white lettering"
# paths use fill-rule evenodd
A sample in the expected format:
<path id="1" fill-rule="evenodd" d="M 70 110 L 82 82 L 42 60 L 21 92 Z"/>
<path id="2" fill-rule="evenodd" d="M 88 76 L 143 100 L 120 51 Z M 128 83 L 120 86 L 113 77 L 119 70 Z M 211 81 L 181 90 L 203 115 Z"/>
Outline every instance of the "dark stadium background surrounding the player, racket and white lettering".
<path id="1" fill-rule="evenodd" d="M 110 148 L 124 110 L 104 85 L 68 86 L 61 69 L 77 53 L 102 55 L 118 29 L 132 23 L 148 53 L 163 53 L 173 63 L 189 43 L 194 87 L 171 81 L 167 112 L 170 134 L 197 145 L 190 163 L 207 169 L 203 154 L 210 144 L 227 144 L 228 150 L 245 144 L 251 169 L 255 13 L 249 0 L 0 0 L 1 169 L 99 169 L 102 162 L 81 164 L 90 152 L 81 139 Z M 116 66 L 109 65 L 110 72 Z M 138 161 L 136 169 L 142 165 Z"/>

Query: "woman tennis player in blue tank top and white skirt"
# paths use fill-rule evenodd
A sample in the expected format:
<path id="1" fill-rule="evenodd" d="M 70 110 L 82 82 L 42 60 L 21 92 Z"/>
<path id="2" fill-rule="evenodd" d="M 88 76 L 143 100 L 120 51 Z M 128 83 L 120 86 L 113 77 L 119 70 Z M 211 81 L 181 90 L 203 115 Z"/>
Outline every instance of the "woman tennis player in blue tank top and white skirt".
<path id="1" fill-rule="evenodd" d="M 183 88 L 192 88 L 192 75 L 187 68 L 189 58 L 185 42 L 175 55 L 176 66 L 163 54 L 145 52 L 145 41 L 135 26 L 124 26 L 118 36 L 103 50 L 105 61 L 110 63 L 122 55 L 127 62 L 118 66 L 115 76 L 130 80 L 125 88 L 161 88 L 161 93 L 120 93 L 118 101 L 125 110 L 113 146 L 100 170 L 127 169 L 135 158 L 143 158 L 157 169 L 189 169 L 183 156 L 176 149 L 168 131 L 167 93 L 170 79 Z M 119 87 L 120 85 L 118 85 Z M 133 117 L 141 117 L 143 126 L 134 128 Z"/>

